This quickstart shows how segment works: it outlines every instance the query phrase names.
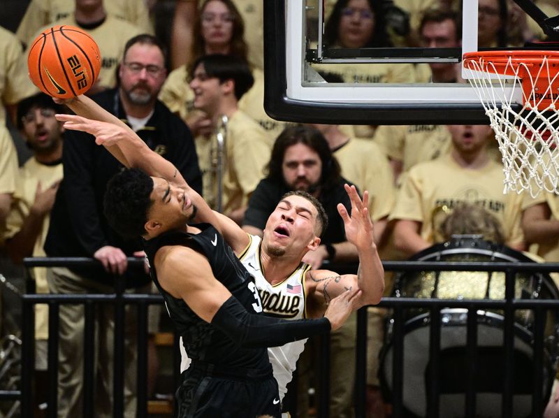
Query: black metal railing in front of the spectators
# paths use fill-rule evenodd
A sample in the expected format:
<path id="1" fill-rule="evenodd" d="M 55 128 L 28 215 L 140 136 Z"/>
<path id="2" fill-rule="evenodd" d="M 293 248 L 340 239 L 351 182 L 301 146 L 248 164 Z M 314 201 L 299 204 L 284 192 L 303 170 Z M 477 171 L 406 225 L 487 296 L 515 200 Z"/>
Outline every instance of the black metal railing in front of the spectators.
<path id="1" fill-rule="evenodd" d="M 141 263 L 138 259 L 129 259 L 129 263 Z M 94 259 L 25 259 L 27 268 L 36 266 L 97 266 Z M 405 415 L 403 404 L 404 388 L 404 347 L 405 338 L 405 311 L 409 308 L 423 308 L 430 314 L 429 324 L 429 356 L 430 362 L 428 373 L 430 376 L 438 376 L 442 367 L 439 356 L 441 336 L 441 310 L 443 308 L 464 308 L 467 310 L 466 321 L 466 348 L 467 353 L 467 376 L 465 376 L 465 417 L 474 417 L 476 414 L 476 362 L 479 358 L 477 349 L 478 310 L 500 310 L 503 313 L 503 347 L 504 356 L 502 367 L 504 370 L 504 382 L 502 387 L 502 416 L 511 417 L 513 414 L 513 377 L 514 377 L 514 313 L 516 310 L 534 311 L 533 336 L 533 382 L 542 382 L 544 379 L 544 322 L 548 310 L 558 310 L 559 301 L 551 299 L 515 299 L 514 284 L 516 273 L 551 273 L 559 271 L 559 264 L 530 264 L 530 263 L 492 263 L 492 262 L 425 262 L 425 261 L 385 261 L 385 271 L 502 271 L 505 273 L 505 298 L 504 299 L 430 299 L 430 298 L 383 298 L 379 307 L 391 308 L 392 319 L 392 385 L 391 405 L 394 418 Z M 137 388 L 137 410 L 138 417 L 147 416 L 147 306 L 161 303 L 161 296 L 149 294 L 126 294 L 122 280 L 115 281 L 115 294 L 24 294 L 23 301 L 23 328 L 22 328 L 22 377 L 20 391 L 0 391 L 0 401 L 21 401 L 21 412 L 23 417 L 33 415 L 33 376 L 34 376 L 34 305 L 45 303 L 49 305 L 49 340 L 48 340 L 48 416 L 55 417 L 57 412 L 57 368 L 58 368 L 58 310 L 59 305 L 64 303 L 83 303 L 85 305 L 85 340 L 84 340 L 84 417 L 94 416 L 93 398 L 94 370 L 93 361 L 87 361 L 93 357 L 94 345 L 94 315 L 99 303 L 115 304 L 115 373 L 114 373 L 114 416 L 122 417 L 124 414 L 124 307 L 125 305 L 136 305 L 138 307 L 138 388 Z M 367 367 L 366 341 L 367 341 L 367 315 L 366 309 L 358 312 L 357 319 L 357 342 L 356 342 L 356 417 L 365 417 L 365 387 Z M 324 341 L 327 341 L 324 338 Z M 176 344 L 175 344 L 176 345 Z M 319 417 L 328 418 L 329 403 L 329 350 L 324 345 L 321 355 L 321 371 L 324 379 L 321 379 L 319 391 Z M 180 356 L 175 349 L 175 365 Z M 175 366 L 177 368 L 177 366 Z M 554 372 L 555 370 L 553 370 Z M 178 370 L 175 370 L 178 382 Z M 551 376 L 553 379 L 553 376 Z M 440 382 L 430 379 L 426 394 L 427 416 L 439 417 L 440 405 Z M 534 384 L 532 388 L 532 417 L 541 417 L 545 405 L 544 390 L 542 384 Z M 294 410 L 293 410 L 294 412 Z M 294 415 L 294 414 L 293 414 Z M 295 415 L 296 416 L 296 415 Z"/>

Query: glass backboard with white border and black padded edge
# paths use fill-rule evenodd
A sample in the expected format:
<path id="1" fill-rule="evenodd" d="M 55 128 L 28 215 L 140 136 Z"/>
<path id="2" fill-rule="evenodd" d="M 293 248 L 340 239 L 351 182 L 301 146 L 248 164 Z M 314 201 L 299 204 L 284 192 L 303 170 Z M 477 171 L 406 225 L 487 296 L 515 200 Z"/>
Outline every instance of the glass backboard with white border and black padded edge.
<path id="1" fill-rule="evenodd" d="M 549 1 L 549 7 L 546 0 L 536 2 L 544 3 L 541 10 L 548 13 L 537 8 L 542 13 L 537 15 L 511 0 L 264 0 L 266 111 L 292 122 L 488 123 L 461 69 L 461 57 L 485 48 L 523 45 L 528 26 L 533 40 L 544 38 L 530 15 L 542 20 L 554 10 L 559 14 L 558 2 Z M 375 29 L 373 41 L 360 44 L 359 36 L 368 29 L 341 29 L 340 22 L 371 17 L 363 3 L 376 8 Z M 445 45 L 436 33 L 425 34 L 428 22 L 423 17 L 441 8 L 458 17 L 453 22 L 461 36 L 455 45 Z M 516 26 L 511 22 L 515 16 Z M 495 22 L 505 20 L 506 27 L 495 30 Z M 384 31 L 375 32 L 377 27 Z M 518 30 L 523 32 L 518 35 Z M 435 69 L 445 66 L 454 69 L 454 77 L 435 80 Z M 510 94 L 521 106 L 520 89 L 511 85 Z"/>

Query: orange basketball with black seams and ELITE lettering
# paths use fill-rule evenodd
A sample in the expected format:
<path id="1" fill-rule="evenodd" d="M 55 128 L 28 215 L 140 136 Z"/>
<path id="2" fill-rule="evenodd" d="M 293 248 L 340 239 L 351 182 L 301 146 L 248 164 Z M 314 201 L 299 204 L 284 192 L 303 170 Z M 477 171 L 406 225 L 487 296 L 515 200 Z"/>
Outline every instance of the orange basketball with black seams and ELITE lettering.
<path id="1" fill-rule="evenodd" d="M 99 76 L 101 54 L 89 34 L 58 25 L 31 43 L 27 57 L 29 78 L 42 92 L 70 99 L 89 90 Z"/>

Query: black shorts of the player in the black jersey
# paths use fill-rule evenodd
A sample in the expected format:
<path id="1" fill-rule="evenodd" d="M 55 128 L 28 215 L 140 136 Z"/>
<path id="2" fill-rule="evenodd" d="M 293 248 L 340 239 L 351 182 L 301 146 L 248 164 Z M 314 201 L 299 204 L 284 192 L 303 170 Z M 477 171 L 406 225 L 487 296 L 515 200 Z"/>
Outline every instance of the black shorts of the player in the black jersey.
<path id="1" fill-rule="evenodd" d="M 180 418 L 281 417 L 277 382 L 269 370 L 191 364 L 176 393 Z"/>

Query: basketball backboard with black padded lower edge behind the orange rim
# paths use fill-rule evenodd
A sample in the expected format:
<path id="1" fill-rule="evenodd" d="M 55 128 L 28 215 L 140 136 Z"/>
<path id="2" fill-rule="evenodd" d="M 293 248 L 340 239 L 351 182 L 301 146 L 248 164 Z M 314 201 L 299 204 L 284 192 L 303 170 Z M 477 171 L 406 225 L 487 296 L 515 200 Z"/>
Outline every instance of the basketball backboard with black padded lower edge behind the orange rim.
<path id="1" fill-rule="evenodd" d="M 423 0 L 423 3 L 429 1 Z M 438 1 L 442 0 L 430 2 Z M 492 1 L 500 5 L 507 3 L 507 0 Z M 531 4 L 530 0 L 516 1 Z M 383 3 L 384 11 L 388 3 L 389 7 L 414 3 L 412 0 L 372 0 L 375 2 Z M 486 0 L 453 1 L 462 21 L 461 45 L 454 48 L 329 46 L 328 18 L 333 15 L 334 0 L 264 0 L 264 3 L 265 108 L 271 117 L 291 122 L 342 124 L 488 123 L 476 92 L 465 80 L 467 73 L 460 71 L 463 54 L 477 51 L 481 43 L 477 33 L 478 16 L 495 13 Z M 344 10 L 344 13 L 350 12 Z M 530 17 L 533 13 L 527 15 L 521 8 L 516 13 L 524 14 L 519 17 L 524 22 L 533 23 Z M 388 18 L 398 31 L 398 22 L 394 24 L 398 15 Z M 428 68 L 429 64 L 453 64 L 458 80 L 421 80 L 415 70 L 419 66 Z M 340 73 L 337 71 L 340 66 L 344 66 L 345 75 L 353 74 L 353 79 L 326 82 L 330 73 Z M 384 80 L 377 80 L 367 75 L 375 71 L 362 70 L 383 66 L 390 67 L 392 74 L 403 74 L 403 80 L 393 77 L 394 82 L 386 82 L 390 81 L 388 75 Z M 406 73 L 409 80 L 405 80 Z M 497 77 L 501 76 L 495 75 Z M 510 94 L 516 95 L 514 100 L 520 107 L 520 89 L 511 85 Z"/>

